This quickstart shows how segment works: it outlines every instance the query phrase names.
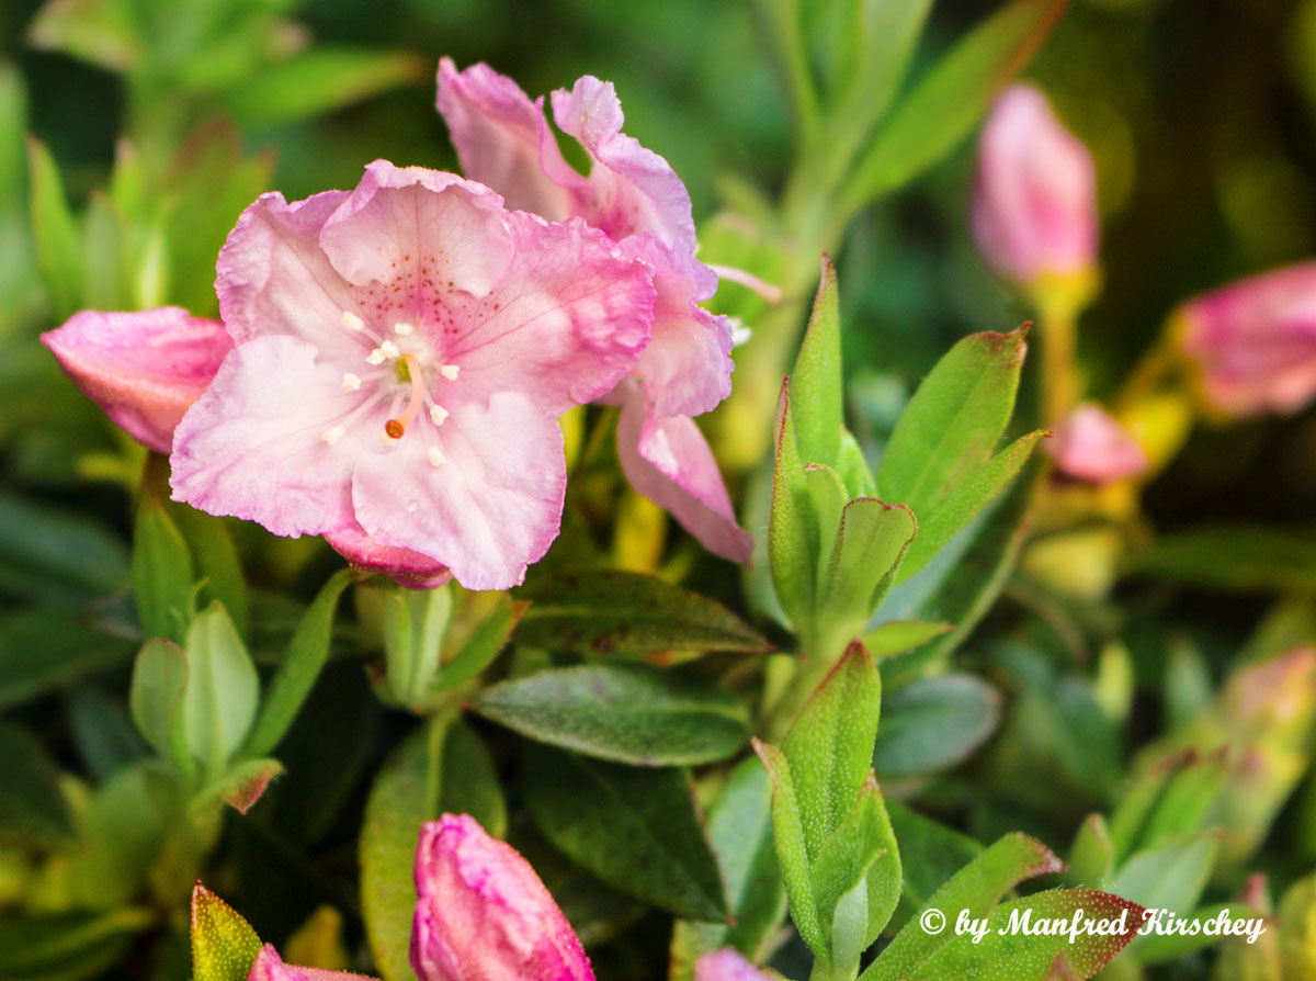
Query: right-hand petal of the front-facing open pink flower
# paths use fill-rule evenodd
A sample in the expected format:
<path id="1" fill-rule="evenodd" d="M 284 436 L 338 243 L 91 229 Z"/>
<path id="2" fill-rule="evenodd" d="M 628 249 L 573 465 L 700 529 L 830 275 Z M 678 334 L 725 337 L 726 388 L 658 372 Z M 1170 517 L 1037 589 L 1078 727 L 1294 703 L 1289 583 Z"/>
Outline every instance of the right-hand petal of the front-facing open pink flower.
<path id="1" fill-rule="evenodd" d="M 603 234 L 572 220 L 508 216 L 517 262 L 483 300 L 449 300 L 446 357 L 470 394 L 522 391 L 550 415 L 609 391 L 649 341 L 654 287 L 640 262 L 619 259 Z"/>

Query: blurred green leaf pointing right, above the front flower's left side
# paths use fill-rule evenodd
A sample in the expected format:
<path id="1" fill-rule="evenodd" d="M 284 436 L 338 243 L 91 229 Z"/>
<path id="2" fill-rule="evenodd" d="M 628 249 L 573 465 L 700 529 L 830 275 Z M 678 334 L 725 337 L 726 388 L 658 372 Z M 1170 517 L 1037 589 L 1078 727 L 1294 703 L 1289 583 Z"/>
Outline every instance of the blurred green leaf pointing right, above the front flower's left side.
<path id="1" fill-rule="evenodd" d="M 225 101 L 243 129 L 270 126 L 421 82 L 430 71 L 426 59 L 409 53 L 317 46 L 263 68 L 230 90 Z"/>

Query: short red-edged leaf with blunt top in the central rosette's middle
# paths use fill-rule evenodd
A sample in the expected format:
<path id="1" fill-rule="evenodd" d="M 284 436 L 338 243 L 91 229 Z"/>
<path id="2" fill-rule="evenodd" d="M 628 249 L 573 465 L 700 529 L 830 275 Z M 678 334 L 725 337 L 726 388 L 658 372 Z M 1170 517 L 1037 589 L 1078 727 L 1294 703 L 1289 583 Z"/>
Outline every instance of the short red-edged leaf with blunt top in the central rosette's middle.
<path id="1" fill-rule="evenodd" d="M 841 512 L 828 564 L 826 616 L 865 623 L 895 585 L 907 552 L 917 543 L 919 523 L 904 504 L 857 498 Z"/>

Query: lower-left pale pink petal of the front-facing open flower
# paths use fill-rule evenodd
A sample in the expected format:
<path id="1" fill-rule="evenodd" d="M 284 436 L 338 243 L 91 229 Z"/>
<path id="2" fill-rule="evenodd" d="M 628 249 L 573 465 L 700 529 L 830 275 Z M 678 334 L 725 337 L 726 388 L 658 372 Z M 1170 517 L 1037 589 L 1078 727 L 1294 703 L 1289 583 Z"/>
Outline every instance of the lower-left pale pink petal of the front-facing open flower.
<path id="1" fill-rule="evenodd" d="M 275 535 L 354 525 L 353 464 L 378 446 L 387 407 L 329 445 L 321 435 L 362 402 L 342 391 L 341 377 L 295 337 L 238 345 L 174 433 L 174 499 L 259 521 Z"/>

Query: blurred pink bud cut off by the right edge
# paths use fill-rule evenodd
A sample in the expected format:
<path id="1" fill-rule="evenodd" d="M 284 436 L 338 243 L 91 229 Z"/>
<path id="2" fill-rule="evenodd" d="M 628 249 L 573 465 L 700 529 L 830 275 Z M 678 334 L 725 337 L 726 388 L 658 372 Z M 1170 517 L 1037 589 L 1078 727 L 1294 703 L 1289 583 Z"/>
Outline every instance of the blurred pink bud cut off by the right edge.
<path id="1" fill-rule="evenodd" d="M 1296 412 L 1316 396 L 1316 262 L 1188 300 L 1178 342 L 1216 413 Z"/>

